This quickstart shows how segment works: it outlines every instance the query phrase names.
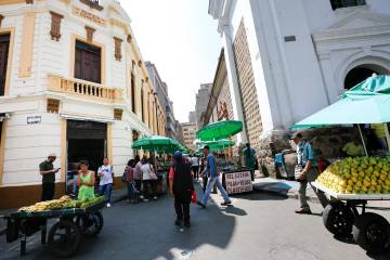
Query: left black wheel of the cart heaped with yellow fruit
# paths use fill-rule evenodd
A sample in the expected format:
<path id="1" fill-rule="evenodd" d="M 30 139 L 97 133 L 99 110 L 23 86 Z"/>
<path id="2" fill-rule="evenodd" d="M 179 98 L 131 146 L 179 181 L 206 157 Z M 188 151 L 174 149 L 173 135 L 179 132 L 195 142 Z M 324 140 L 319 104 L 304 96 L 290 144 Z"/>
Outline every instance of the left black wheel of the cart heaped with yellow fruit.
<path id="1" fill-rule="evenodd" d="M 351 234 L 353 220 L 353 211 L 341 202 L 330 202 L 323 212 L 324 225 L 334 235 Z"/>

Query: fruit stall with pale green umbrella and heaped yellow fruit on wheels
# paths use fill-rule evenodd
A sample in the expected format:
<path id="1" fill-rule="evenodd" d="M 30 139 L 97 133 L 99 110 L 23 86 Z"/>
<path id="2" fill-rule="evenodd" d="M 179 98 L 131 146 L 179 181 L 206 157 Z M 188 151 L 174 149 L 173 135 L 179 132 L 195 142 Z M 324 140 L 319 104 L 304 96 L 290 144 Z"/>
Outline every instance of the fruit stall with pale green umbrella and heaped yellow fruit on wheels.
<path id="1" fill-rule="evenodd" d="M 390 76 L 373 75 L 333 105 L 291 127 L 356 126 L 366 156 L 335 161 L 312 185 L 332 198 L 323 211 L 325 227 L 337 236 L 352 233 L 354 242 L 369 253 L 390 249 L 389 222 L 378 213 L 366 212 L 368 202 L 390 200 L 390 151 L 387 156 L 368 156 L 360 125 L 382 125 L 390 146 L 388 122 Z"/>

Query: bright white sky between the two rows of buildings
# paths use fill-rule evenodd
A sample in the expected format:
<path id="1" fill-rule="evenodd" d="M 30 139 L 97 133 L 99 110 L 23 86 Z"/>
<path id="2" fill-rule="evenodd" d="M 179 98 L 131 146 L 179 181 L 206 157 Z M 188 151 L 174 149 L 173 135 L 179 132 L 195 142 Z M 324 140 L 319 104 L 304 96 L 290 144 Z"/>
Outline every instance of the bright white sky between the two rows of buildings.
<path id="1" fill-rule="evenodd" d="M 168 84 L 174 116 L 188 120 L 200 83 L 212 82 L 221 39 L 208 0 L 120 0 L 145 61 Z"/>

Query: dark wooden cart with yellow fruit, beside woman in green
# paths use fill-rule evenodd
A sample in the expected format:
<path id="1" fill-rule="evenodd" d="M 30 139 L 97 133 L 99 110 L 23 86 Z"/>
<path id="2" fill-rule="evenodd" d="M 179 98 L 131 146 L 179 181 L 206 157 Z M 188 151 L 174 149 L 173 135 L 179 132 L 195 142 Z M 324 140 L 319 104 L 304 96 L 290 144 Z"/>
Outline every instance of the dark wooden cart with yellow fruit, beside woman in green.
<path id="1" fill-rule="evenodd" d="M 21 239 L 21 256 L 26 255 L 26 240 L 39 231 L 41 244 L 47 244 L 57 257 L 74 255 L 82 236 L 98 235 L 103 227 L 100 212 L 105 206 L 104 197 L 91 200 L 73 200 L 69 196 L 37 203 L 5 216 L 6 243 Z M 48 222 L 56 220 L 48 234 Z M 47 239 L 48 236 L 48 239 Z"/>

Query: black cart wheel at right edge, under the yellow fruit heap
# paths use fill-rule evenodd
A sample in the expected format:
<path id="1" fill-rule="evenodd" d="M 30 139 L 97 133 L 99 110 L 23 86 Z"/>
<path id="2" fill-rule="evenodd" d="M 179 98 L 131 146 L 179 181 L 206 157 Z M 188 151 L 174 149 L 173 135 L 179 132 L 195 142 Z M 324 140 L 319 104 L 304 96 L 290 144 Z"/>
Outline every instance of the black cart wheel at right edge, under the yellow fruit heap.
<path id="1" fill-rule="evenodd" d="M 390 248 L 390 225 L 381 216 L 367 212 L 356 218 L 353 238 L 370 253 L 381 253 Z"/>

